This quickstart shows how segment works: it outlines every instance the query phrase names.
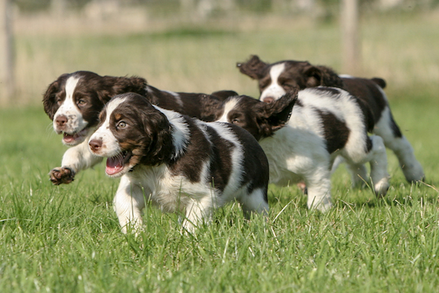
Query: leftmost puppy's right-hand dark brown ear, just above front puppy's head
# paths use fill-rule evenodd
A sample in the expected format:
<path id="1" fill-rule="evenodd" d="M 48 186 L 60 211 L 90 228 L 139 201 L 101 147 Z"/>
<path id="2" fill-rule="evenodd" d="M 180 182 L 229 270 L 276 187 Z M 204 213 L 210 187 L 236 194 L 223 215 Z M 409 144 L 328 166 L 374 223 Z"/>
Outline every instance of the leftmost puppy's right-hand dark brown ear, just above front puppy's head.
<path id="1" fill-rule="evenodd" d="M 139 93 L 144 94 L 146 80 L 142 77 L 102 77 L 102 89 L 98 91 L 98 96 L 103 103 L 107 103 L 113 96 L 120 93 Z"/>

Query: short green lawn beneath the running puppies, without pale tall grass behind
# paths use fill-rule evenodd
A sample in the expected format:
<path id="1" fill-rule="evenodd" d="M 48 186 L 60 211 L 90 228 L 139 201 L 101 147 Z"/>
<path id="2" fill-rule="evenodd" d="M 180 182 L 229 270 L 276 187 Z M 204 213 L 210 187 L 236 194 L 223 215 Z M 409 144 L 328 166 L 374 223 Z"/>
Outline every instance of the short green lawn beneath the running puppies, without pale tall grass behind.
<path id="1" fill-rule="evenodd" d="M 401 96 L 396 121 L 436 185 L 439 128 L 428 97 Z M 422 100 L 422 103 L 419 103 Z M 340 167 L 334 208 L 308 211 L 295 186 L 270 186 L 268 222 L 237 204 L 195 236 L 174 214 L 148 206 L 145 232 L 119 232 L 118 181 L 103 166 L 52 186 L 61 138 L 40 107 L 0 111 L 1 292 L 437 292 L 439 203 L 433 187 L 410 186 L 389 154 L 385 199 L 352 189 Z"/>

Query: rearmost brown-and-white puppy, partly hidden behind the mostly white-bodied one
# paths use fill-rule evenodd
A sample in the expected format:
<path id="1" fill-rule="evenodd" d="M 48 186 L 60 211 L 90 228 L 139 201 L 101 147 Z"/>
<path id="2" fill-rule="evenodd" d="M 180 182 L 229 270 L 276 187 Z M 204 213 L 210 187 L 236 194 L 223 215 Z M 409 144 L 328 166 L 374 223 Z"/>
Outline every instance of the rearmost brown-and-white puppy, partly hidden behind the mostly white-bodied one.
<path id="1" fill-rule="evenodd" d="M 277 100 L 294 87 L 338 87 L 348 91 L 371 110 L 371 116 L 367 117 L 374 125 L 371 132 L 383 138 L 385 146 L 392 149 L 407 181 L 424 180 L 424 170 L 415 158 L 413 147 L 392 117 L 383 91 L 386 86 L 384 80 L 337 75 L 331 68 L 314 66 L 307 61 L 265 63 L 256 55 L 247 62 L 237 63 L 237 66 L 241 73 L 259 82 L 259 99 L 267 103 Z"/>

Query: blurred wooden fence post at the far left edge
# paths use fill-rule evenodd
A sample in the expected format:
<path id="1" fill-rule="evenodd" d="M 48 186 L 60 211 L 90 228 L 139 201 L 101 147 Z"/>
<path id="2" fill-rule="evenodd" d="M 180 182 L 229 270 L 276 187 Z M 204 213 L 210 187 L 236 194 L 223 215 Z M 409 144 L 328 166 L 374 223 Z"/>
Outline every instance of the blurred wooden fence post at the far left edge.
<path id="1" fill-rule="evenodd" d="M 10 103 L 15 91 L 11 13 L 10 0 L 0 0 L 0 105 Z"/>

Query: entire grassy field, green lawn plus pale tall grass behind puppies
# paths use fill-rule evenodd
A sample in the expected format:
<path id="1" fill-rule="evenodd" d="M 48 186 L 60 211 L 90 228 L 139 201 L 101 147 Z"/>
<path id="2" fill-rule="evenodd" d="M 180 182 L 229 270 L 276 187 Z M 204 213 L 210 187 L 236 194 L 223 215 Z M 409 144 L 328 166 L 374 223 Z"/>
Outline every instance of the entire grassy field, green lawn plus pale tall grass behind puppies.
<path id="1" fill-rule="evenodd" d="M 276 22 L 274 22 L 276 24 Z M 156 87 L 256 96 L 236 61 L 309 59 L 340 67 L 337 25 L 251 29 L 174 28 L 100 36 L 17 35 L 22 107 L 0 110 L 1 292 L 438 292 L 439 20 L 363 20 L 364 75 L 385 77 L 396 121 L 427 181 L 403 179 L 389 153 L 391 188 L 378 200 L 333 176 L 334 208 L 308 211 L 295 186 L 270 186 L 270 220 L 242 218 L 237 204 L 194 236 L 178 217 L 148 206 L 145 232 L 119 231 L 117 180 L 102 165 L 52 186 L 47 173 L 66 150 L 40 105 L 57 76 L 75 70 L 141 75 Z"/>

